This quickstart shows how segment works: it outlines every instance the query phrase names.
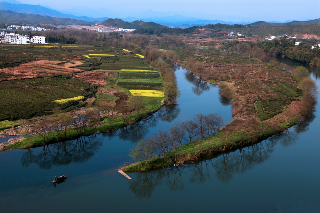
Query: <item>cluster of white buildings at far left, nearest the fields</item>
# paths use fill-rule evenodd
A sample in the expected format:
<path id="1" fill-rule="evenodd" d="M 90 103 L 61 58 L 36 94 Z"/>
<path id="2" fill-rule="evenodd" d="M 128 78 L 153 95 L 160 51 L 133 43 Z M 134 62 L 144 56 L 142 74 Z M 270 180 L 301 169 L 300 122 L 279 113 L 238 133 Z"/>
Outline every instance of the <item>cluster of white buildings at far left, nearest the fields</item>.
<path id="1" fill-rule="evenodd" d="M 8 32 L 0 32 L 0 43 L 12 43 L 12 44 L 45 44 L 45 37 L 34 35 L 30 39 L 29 34 L 15 34 Z"/>

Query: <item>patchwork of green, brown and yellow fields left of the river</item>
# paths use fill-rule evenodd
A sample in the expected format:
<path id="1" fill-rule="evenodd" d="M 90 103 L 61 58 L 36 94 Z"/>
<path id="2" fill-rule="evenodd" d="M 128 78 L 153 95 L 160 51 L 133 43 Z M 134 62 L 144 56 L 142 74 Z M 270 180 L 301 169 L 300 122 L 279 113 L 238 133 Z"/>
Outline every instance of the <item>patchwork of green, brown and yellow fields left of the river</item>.
<path id="1" fill-rule="evenodd" d="M 0 45 L 0 57 L 0 121 L 68 112 L 85 106 L 89 97 L 96 98 L 99 109 L 120 109 L 130 101 L 130 89 L 163 96 L 159 73 L 143 57 L 122 49 Z"/>

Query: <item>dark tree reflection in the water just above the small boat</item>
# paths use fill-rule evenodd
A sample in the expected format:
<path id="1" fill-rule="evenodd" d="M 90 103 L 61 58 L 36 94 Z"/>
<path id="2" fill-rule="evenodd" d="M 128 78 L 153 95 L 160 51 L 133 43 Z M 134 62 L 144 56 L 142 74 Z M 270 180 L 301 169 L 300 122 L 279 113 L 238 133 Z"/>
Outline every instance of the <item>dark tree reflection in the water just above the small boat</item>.
<path id="1" fill-rule="evenodd" d="M 61 141 L 43 146 L 39 154 L 28 149 L 21 157 L 21 164 L 28 167 L 35 163 L 42 169 L 50 169 L 53 165 L 83 163 L 94 156 L 101 146 L 102 142 L 95 135 L 80 137 L 75 141 Z"/>

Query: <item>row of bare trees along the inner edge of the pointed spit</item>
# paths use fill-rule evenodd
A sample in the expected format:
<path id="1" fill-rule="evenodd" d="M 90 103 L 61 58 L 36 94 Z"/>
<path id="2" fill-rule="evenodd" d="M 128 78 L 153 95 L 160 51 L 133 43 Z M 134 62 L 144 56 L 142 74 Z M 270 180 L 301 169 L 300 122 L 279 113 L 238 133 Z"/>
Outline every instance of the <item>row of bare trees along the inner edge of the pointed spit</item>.
<path id="1" fill-rule="evenodd" d="M 194 120 L 176 123 L 167 130 L 154 133 L 147 140 L 142 140 L 130 150 L 130 156 L 140 162 L 160 157 L 184 143 L 205 138 L 220 131 L 224 126 L 222 116 L 217 113 L 197 114 Z"/>

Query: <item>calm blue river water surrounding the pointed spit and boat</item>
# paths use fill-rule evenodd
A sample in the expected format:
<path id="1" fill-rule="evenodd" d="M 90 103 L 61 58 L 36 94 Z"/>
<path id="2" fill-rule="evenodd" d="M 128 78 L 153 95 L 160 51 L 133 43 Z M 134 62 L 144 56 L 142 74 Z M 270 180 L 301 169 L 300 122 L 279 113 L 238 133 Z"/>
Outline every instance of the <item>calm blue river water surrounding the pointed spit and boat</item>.
<path id="1" fill-rule="evenodd" d="M 179 105 L 118 131 L 0 152 L 0 212 L 319 212 L 319 104 L 299 126 L 184 168 L 128 173 L 129 149 L 196 114 L 232 120 L 219 88 L 176 70 Z M 320 70 L 311 76 L 320 86 Z M 169 108 L 169 107 L 168 107 Z M 68 179 L 53 184 L 54 176 Z"/>

